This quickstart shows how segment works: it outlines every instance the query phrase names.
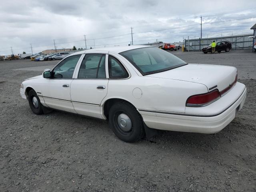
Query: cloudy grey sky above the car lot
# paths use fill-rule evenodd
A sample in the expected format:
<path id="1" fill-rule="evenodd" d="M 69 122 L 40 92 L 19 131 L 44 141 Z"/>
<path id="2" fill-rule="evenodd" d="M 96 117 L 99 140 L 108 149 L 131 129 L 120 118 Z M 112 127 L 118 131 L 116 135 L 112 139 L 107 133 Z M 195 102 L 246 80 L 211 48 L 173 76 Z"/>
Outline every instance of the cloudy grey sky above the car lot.
<path id="1" fill-rule="evenodd" d="M 4 5 L 4 6 L 3 6 Z M 9 0 L 0 6 L 0 55 L 45 49 L 179 42 L 189 35 L 252 33 L 255 0 Z M 247 19 L 244 19 L 247 18 Z M 231 21 L 230 21 L 231 20 Z M 227 22 L 225 22 L 227 21 Z M 169 29 L 169 30 L 162 30 Z M 158 30 L 158 31 L 157 31 Z M 142 32 L 142 33 L 141 33 Z M 111 38 L 106 38 L 111 37 Z M 102 39 L 100 39 L 102 38 Z M 112 45 L 108 45 L 112 44 Z"/>

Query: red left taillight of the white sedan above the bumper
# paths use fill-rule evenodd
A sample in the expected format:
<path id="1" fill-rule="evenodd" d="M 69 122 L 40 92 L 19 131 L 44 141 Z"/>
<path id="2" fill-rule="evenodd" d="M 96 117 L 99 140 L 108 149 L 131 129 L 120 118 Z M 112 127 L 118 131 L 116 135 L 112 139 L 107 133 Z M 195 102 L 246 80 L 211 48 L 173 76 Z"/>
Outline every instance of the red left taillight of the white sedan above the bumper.
<path id="1" fill-rule="evenodd" d="M 220 92 L 218 89 L 215 89 L 208 93 L 190 96 L 187 99 L 186 106 L 202 107 L 211 104 L 218 98 L 220 98 Z"/>

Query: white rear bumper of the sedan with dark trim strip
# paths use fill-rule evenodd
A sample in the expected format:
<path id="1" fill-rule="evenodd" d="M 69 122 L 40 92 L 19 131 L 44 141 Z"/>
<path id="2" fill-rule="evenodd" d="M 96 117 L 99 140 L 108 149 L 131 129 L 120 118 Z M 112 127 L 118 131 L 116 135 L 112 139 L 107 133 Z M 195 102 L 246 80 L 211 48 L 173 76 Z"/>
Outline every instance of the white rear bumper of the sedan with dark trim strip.
<path id="1" fill-rule="evenodd" d="M 235 118 L 236 112 L 242 109 L 245 99 L 246 88 L 244 86 L 242 94 L 231 106 L 220 114 L 213 114 L 213 116 L 187 116 L 138 111 L 149 128 L 212 134 L 225 128 Z"/>

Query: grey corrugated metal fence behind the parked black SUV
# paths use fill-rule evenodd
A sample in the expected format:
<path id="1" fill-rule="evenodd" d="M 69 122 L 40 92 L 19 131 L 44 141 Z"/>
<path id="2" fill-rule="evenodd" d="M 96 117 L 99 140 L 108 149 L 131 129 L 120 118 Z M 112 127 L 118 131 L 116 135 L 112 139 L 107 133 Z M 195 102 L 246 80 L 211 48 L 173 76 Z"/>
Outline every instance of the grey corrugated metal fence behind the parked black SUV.
<path id="1" fill-rule="evenodd" d="M 251 49 L 253 39 L 249 38 L 253 34 L 236 35 L 236 36 L 224 36 L 217 38 L 202 38 L 202 39 L 185 39 L 184 46 L 186 51 L 200 51 L 203 46 L 211 44 L 213 41 L 229 41 L 232 43 L 232 49 Z"/>

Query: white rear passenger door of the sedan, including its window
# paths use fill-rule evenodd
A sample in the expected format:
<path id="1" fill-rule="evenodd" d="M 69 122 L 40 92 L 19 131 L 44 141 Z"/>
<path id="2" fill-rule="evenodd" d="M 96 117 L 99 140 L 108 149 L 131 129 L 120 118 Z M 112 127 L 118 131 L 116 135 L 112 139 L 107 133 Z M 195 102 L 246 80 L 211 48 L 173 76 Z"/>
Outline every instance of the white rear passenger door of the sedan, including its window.
<path id="1" fill-rule="evenodd" d="M 106 54 L 86 54 L 71 83 L 71 100 L 78 114 L 103 118 L 100 103 L 108 92 Z"/>

